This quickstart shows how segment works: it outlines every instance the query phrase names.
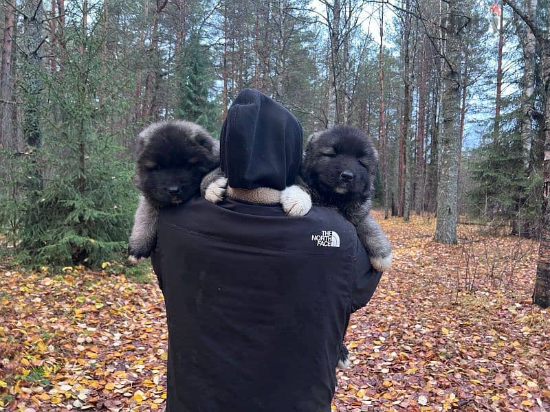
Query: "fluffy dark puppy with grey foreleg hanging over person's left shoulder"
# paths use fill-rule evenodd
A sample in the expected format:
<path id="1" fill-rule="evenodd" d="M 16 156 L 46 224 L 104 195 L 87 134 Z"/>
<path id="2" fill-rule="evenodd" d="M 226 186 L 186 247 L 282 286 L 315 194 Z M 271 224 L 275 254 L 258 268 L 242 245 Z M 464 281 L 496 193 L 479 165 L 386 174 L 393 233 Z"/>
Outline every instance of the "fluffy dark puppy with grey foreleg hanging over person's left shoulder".
<path id="1" fill-rule="evenodd" d="M 140 202 L 129 240 L 129 259 L 151 255 L 158 211 L 199 194 L 201 179 L 219 166 L 219 143 L 184 120 L 153 123 L 137 137 L 135 185 Z"/>

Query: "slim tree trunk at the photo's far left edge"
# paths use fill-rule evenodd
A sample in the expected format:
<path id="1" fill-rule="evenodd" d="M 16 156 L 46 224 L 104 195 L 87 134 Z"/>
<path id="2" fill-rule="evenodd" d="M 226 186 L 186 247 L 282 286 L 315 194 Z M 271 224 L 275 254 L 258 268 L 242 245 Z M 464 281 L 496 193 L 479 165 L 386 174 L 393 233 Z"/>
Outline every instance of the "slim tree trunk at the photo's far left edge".
<path id="1" fill-rule="evenodd" d="M 4 32 L 2 48 L 2 71 L 0 73 L 0 147 L 10 150 L 17 147 L 17 139 L 12 134 L 11 113 L 12 104 L 12 39 L 14 28 L 14 14 L 11 6 L 6 3 L 4 14 Z"/>

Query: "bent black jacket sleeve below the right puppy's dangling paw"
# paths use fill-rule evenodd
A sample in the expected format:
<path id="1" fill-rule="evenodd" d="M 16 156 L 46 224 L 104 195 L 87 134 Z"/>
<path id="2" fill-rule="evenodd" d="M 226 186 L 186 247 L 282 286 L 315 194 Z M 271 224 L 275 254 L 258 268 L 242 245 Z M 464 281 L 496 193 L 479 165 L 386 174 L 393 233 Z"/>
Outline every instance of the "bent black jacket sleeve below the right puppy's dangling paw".
<path id="1" fill-rule="evenodd" d="M 359 310 L 365 306 L 380 282 L 382 272 L 376 271 L 371 262 L 369 261 L 369 255 L 362 243 L 358 240 L 358 253 L 355 260 L 355 268 L 353 274 L 353 288 L 351 290 L 351 312 Z"/>

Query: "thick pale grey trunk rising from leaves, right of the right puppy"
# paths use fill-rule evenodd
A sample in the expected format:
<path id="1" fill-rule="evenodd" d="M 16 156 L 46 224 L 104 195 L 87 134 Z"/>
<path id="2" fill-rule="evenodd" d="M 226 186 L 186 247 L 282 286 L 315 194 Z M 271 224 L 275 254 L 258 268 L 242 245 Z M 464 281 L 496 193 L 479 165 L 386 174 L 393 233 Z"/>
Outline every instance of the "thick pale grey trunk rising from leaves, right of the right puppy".
<path id="1" fill-rule="evenodd" d="M 463 2 L 449 1 L 448 14 L 443 27 L 446 34 L 443 73 L 443 134 L 439 156 L 440 175 L 437 185 L 437 222 L 434 240 L 456 243 L 456 220 L 459 172 L 459 117 L 460 117 L 460 16 Z"/>

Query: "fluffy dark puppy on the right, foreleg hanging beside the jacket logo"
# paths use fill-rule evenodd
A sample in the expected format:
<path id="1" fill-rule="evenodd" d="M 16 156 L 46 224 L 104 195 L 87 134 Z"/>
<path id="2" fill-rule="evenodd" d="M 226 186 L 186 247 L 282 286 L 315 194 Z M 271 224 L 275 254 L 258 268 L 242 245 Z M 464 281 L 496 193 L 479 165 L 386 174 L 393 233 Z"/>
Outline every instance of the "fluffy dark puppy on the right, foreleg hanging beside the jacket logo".
<path id="1" fill-rule="evenodd" d="M 309 138 L 300 178 L 314 204 L 333 206 L 357 229 L 379 271 L 391 266 L 391 246 L 384 231 L 369 215 L 378 153 L 361 130 L 334 126 Z M 285 205 L 283 199 L 283 207 Z"/>

